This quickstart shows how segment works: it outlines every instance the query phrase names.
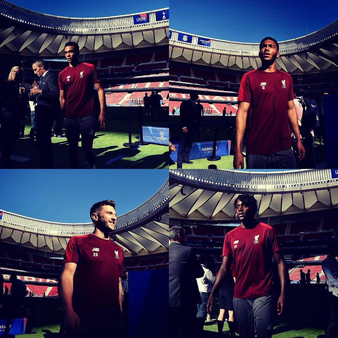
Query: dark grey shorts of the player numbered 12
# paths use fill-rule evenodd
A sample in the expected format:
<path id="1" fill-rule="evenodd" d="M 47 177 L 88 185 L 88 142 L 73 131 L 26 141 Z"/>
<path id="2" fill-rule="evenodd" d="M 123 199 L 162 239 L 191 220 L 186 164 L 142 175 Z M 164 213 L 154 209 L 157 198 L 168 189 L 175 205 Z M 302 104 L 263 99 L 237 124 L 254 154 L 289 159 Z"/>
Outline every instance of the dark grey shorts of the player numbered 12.
<path id="1" fill-rule="evenodd" d="M 247 152 L 246 168 L 297 169 L 297 163 L 291 148 L 268 155 L 251 155 L 249 152 Z"/>

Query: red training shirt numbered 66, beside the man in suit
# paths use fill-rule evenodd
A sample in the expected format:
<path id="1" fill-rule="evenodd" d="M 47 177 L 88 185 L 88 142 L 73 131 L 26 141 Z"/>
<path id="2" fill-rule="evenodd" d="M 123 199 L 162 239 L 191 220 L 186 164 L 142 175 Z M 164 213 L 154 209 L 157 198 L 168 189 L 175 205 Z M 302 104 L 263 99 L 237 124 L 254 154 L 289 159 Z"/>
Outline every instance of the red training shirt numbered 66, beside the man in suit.
<path id="1" fill-rule="evenodd" d="M 59 73 L 59 87 L 65 91 L 66 118 L 94 114 L 94 84 L 99 82 L 95 66 L 86 62 Z"/>

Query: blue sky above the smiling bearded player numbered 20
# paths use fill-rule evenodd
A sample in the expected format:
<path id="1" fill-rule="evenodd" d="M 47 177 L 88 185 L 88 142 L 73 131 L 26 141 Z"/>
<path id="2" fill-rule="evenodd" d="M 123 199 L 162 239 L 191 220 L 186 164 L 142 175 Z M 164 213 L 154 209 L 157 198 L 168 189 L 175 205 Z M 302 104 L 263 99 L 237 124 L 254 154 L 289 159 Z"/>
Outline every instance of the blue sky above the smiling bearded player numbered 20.
<path id="1" fill-rule="evenodd" d="M 90 222 L 91 206 L 113 199 L 117 215 L 145 202 L 168 170 L 0 170 L 0 209 L 33 218 Z"/>

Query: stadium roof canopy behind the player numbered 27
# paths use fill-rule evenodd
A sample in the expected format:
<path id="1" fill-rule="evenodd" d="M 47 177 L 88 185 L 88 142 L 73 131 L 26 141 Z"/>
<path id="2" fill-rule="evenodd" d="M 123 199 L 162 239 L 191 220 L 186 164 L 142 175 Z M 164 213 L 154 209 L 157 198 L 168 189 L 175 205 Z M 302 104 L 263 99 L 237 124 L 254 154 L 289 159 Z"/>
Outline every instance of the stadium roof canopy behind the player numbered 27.
<path id="1" fill-rule="evenodd" d="M 234 201 L 252 194 L 258 216 L 338 209 L 338 173 L 330 169 L 287 172 L 169 170 L 169 217 L 233 221 Z"/>

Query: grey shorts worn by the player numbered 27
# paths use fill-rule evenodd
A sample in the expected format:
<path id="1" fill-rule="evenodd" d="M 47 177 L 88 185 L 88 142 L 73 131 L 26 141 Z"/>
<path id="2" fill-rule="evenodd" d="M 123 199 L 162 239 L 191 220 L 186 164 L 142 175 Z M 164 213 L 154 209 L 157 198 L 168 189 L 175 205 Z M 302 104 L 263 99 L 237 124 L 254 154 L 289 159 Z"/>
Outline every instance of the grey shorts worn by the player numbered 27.
<path id="1" fill-rule="evenodd" d="M 234 297 L 235 318 L 239 335 L 254 337 L 272 334 L 273 296 L 242 299 Z"/>

